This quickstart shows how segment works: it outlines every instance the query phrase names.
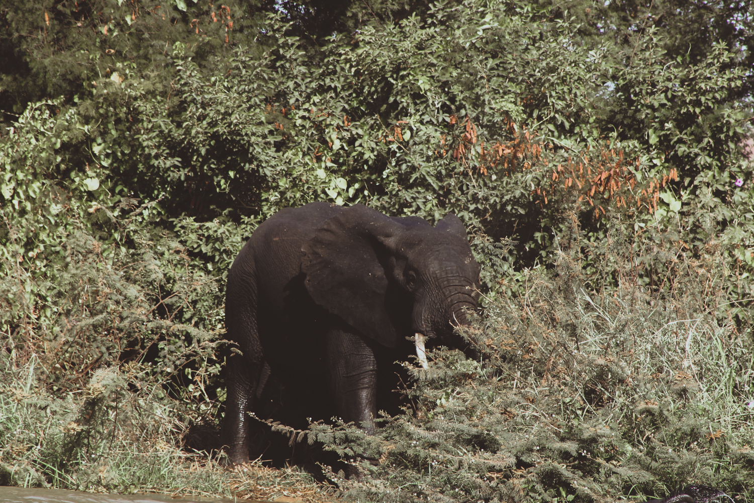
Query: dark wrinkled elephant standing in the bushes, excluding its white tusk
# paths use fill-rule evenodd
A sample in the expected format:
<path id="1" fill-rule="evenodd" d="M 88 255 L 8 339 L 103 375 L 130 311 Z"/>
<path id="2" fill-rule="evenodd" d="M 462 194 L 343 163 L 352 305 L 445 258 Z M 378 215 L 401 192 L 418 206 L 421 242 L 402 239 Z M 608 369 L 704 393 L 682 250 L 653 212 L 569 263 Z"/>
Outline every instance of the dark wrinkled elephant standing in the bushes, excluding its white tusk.
<path id="1" fill-rule="evenodd" d="M 271 375 L 298 393 L 296 403 L 317 409 L 329 400 L 346 422 L 373 431 L 391 348 L 416 333 L 463 349 L 452 325 L 477 307 L 478 281 L 455 215 L 432 227 L 360 204 L 311 203 L 259 225 L 228 274 L 225 324 L 243 353 L 228 360 L 229 461 L 249 460 L 247 413 Z"/>

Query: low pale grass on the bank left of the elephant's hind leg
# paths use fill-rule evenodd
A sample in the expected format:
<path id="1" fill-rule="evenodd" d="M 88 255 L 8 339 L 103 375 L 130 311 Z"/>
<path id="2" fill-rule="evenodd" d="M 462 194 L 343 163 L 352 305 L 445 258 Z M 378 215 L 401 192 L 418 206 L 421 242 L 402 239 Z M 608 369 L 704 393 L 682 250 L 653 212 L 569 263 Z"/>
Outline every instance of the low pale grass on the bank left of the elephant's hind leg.
<path id="1" fill-rule="evenodd" d="M 192 414 L 152 370 L 103 367 L 83 389 L 56 397 L 38 382 L 37 357 L 12 363 L 0 360 L 0 486 L 309 500 L 326 491 L 298 468 L 227 470 L 206 452 L 186 452 Z"/>

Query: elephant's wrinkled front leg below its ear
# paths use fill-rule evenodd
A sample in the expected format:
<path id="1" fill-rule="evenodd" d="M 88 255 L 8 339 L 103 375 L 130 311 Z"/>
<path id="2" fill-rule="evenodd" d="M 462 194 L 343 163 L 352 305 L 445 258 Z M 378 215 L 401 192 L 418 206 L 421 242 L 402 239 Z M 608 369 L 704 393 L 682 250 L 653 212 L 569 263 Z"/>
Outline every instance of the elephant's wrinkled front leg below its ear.
<path id="1" fill-rule="evenodd" d="M 327 333 L 326 354 L 330 388 L 338 413 L 345 422 L 355 422 L 367 432 L 375 429 L 377 414 L 377 362 L 363 336 L 347 330 Z"/>

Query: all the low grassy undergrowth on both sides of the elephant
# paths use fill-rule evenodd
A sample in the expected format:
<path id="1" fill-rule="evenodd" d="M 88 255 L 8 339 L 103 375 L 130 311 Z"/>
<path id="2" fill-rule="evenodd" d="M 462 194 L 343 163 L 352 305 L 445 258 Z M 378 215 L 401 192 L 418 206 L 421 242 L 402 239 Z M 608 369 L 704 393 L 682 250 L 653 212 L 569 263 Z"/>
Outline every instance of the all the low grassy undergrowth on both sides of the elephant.
<path id="1" fill-rule="evenodd" d="M 0 484 L 555 503 L 645 501 L 700 483 L 754 496 L 754 344 L 749 315 L 725 290 L 747 277 L 725 266 L 725 247 L 690 249 L 617 224 L 593 238 L 574 224 L 545 264 L 506 277 L 509 245 L 474 242 L 486 274 L 512 292 L 483 297 L 483 315 L 461 329 L 476 360 L 437 348 L 428 370 L 405 363 L 405 413 L 383 417 L 373 436 L 338 422 L 273 425 L 354 465 L 351 477 L 322 465 L 323 485 L 259 461 L 227 471 L 189 449 L 190 425 L 211 431 L 221 417 L 219 334 L 160 316 L 143 297 L 176 278 L 207 285 L 180 272 L 192 269 L 179 249 L 167 255 L 175 272 L 149 274 L 149 253 L 176 250 L 164 241 L 129 262 L 74 236 L 62 248 L 68 290 L 51 292 L 57 324 L 0 353 Z M 126 276 L 144 290 L 125 290 Z M 192 330 L 194 342 L 181 336 Z"/>

